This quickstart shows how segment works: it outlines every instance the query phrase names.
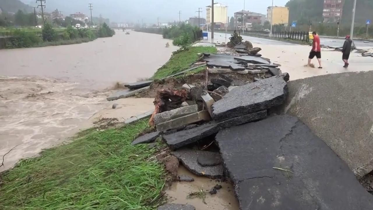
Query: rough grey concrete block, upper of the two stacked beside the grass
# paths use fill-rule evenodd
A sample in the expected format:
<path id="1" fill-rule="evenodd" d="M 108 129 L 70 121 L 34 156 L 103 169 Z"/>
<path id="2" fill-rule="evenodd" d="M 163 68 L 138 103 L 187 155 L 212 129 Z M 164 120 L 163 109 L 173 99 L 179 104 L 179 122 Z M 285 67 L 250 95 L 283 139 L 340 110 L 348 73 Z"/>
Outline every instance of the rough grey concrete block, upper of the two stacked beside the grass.
<path id="1" fill-rule="evenodd" d="M 172 120 L 172 119 L 184 116 L 184 115 L 192 114 L 197 111 L 198 111 L 198 106 L 191 105 L 191 106 L 183 106 L 177 109 L 172 109 L 170 111 L 161 112 L 161 113 L 154 115 L 154 123 L 156 124 L 164 123 L 166 121 L 169 121 L 169 120 Z"/>

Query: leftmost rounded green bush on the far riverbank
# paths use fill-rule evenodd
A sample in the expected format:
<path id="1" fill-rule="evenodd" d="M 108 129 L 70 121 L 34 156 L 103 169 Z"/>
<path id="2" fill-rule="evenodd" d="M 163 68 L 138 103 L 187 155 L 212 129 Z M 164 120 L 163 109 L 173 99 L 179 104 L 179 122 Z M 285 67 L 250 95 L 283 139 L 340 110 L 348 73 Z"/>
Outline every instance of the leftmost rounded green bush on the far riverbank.
<path id="1" fill-rule="evenodd" d="M 13 31 L 13 37 L 6 43 L 6 48 L 32 47 L 41 43 L 43 40 L 34 32 L 25 32 L 19 29 Z"/>

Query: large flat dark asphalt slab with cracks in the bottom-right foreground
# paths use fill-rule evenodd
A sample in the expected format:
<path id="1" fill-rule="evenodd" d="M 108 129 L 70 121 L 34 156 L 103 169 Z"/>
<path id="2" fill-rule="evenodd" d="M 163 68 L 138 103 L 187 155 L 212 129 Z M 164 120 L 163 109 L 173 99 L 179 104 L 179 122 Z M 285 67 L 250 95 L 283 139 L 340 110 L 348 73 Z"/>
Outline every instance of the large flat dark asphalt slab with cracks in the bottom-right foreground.
<path id="1" fill-rule="evenodd" d="M 344 161 L 296 117 L 231 127 L 216 141 L 242 210 L 372 209 Z"/>

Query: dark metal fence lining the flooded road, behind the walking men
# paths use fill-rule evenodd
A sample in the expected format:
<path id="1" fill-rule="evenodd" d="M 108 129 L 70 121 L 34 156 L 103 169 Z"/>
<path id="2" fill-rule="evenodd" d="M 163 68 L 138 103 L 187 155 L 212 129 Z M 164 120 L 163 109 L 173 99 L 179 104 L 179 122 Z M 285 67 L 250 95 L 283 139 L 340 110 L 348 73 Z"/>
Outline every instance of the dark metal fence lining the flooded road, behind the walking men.
<path id="1" fill-rule="evenodd" d="M 257 31 L 257 30 L 244 31 L 242 35 L 270 37 L 269 31 Z M 310 40 L 308 31 L 275 31 L 272 33 L 272 37 L 291 39 L 291 40 L 301 40 L 301 41 L 307 41 L 307 42 Z"/>

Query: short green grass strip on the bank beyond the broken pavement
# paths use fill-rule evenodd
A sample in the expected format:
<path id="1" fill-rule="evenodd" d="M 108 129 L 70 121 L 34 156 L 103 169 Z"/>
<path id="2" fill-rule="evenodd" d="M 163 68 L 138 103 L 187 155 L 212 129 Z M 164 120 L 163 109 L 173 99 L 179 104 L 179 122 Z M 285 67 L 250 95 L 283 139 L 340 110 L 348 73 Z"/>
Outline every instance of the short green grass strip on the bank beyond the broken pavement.
<path id="1" fill-rule="evenodd" d="M 189 50 L 175 53 L 175 55 L 170 58 L 169 62 L 164 64 L 154 73 L 152 78 L 162 79 L 190 68 L 190 65 L 197 62 L 200 57 L 197 53 L 203 52 L 216 53 L 217 50 L 215 47 L 189 47 Z"/>

